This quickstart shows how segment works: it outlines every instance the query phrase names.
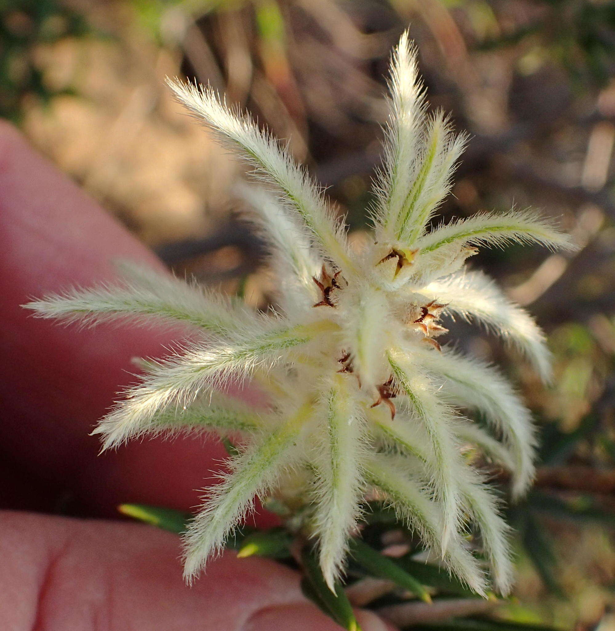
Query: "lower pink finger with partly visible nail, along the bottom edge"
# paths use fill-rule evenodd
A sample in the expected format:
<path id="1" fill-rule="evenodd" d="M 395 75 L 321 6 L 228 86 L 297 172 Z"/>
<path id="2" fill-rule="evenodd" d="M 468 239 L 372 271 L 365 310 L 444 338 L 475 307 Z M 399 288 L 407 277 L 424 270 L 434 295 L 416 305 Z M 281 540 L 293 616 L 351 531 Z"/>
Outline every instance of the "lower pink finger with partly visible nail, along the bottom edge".
<path id="1" fill-rule="evenodd" d="M 0 628 L 16 631 L 339 631 L 296 572 L 227 552 L 195 586 L 171 533 L 123 522 L 0 514 Z M 361 614 L 360 614 L 361 615 Z M 364 631 L 385 631 L 364 613 Z"/>

